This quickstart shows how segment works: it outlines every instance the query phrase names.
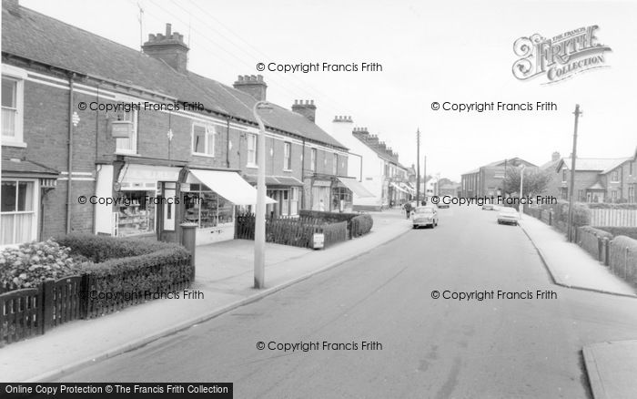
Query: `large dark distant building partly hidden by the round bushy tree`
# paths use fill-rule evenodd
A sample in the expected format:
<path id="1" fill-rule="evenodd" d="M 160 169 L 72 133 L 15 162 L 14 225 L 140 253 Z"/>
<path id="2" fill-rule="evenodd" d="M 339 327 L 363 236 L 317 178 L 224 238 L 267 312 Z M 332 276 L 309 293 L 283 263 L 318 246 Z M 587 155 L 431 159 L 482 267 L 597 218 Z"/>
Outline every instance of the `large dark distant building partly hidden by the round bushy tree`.
<path id="1" fill-rule="evenodd" d="M 462 175 L 460 180 L 460 195 L 469 197 L 491 197 L 502 193 L 502 181 L 509 168 L 524 165 L 526 168 L 538 167 L 520 158 L 502 159 L 470 170 Z"/>

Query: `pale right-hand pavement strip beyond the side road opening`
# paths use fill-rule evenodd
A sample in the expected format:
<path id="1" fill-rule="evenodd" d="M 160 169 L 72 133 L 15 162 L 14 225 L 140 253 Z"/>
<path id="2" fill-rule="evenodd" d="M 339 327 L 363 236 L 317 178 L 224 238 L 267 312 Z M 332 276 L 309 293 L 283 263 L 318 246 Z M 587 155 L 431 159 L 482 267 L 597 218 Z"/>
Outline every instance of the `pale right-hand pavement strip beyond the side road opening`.
<path id="1" fill-rule="evenodd" d="M 540 253 L 556 284 L 594 292 L 637 296 L 630 283 L 612 274 L 580 246 L 566 240 L 560 231 L 529 215 L 522 217 L 520 226 Z"/>

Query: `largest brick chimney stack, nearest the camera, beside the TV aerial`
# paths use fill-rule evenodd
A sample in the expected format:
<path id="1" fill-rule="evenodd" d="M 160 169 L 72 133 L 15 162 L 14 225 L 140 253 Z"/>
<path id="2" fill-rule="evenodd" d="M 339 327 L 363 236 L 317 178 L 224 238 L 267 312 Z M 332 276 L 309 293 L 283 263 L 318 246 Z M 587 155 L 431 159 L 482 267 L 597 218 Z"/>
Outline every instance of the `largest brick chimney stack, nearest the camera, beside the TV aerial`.
<path id="1" fill-rule="evenodd" d="M 172 26 L 166 24 L 166 35 L 148 35 L 148 41 L 142 46 L 142 51 L 148 56 L 161 59 L 177 72 L 187 71 L 188 46 L 184 43 L 184 36 L 172 32 Z"/>

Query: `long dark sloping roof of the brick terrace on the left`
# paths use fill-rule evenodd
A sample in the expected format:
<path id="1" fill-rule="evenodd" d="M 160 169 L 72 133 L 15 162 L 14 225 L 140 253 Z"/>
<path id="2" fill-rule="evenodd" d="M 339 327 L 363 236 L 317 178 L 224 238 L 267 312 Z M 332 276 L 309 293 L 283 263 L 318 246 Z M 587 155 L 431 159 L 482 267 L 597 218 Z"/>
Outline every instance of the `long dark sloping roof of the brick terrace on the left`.
<path id="1" fill-rule="evenodd" d="M 179 73 L 160 59 L 23 6 L 5 6 L 5 2 L 2 52 L 179 101 L 199 102 L 217 114 L 257 123 L 252 115 L 257 100 L 247 93 L 192 72 Z M 273 105 L 262 119 L 268 128 L 347 149 L 308 118 L 284 107 Z"/>

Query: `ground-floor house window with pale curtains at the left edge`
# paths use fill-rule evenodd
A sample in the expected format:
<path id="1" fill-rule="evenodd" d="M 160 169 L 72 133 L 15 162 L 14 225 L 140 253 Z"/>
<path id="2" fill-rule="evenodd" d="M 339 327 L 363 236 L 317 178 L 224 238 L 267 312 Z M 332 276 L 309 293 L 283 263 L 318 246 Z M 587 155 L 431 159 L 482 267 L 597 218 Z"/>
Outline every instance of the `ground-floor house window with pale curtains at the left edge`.
<path id="1" fill-rule="evenodd" d="M 3 179 L 0 197 L 0 245 L 35 240 L 35 181 Z"/>

